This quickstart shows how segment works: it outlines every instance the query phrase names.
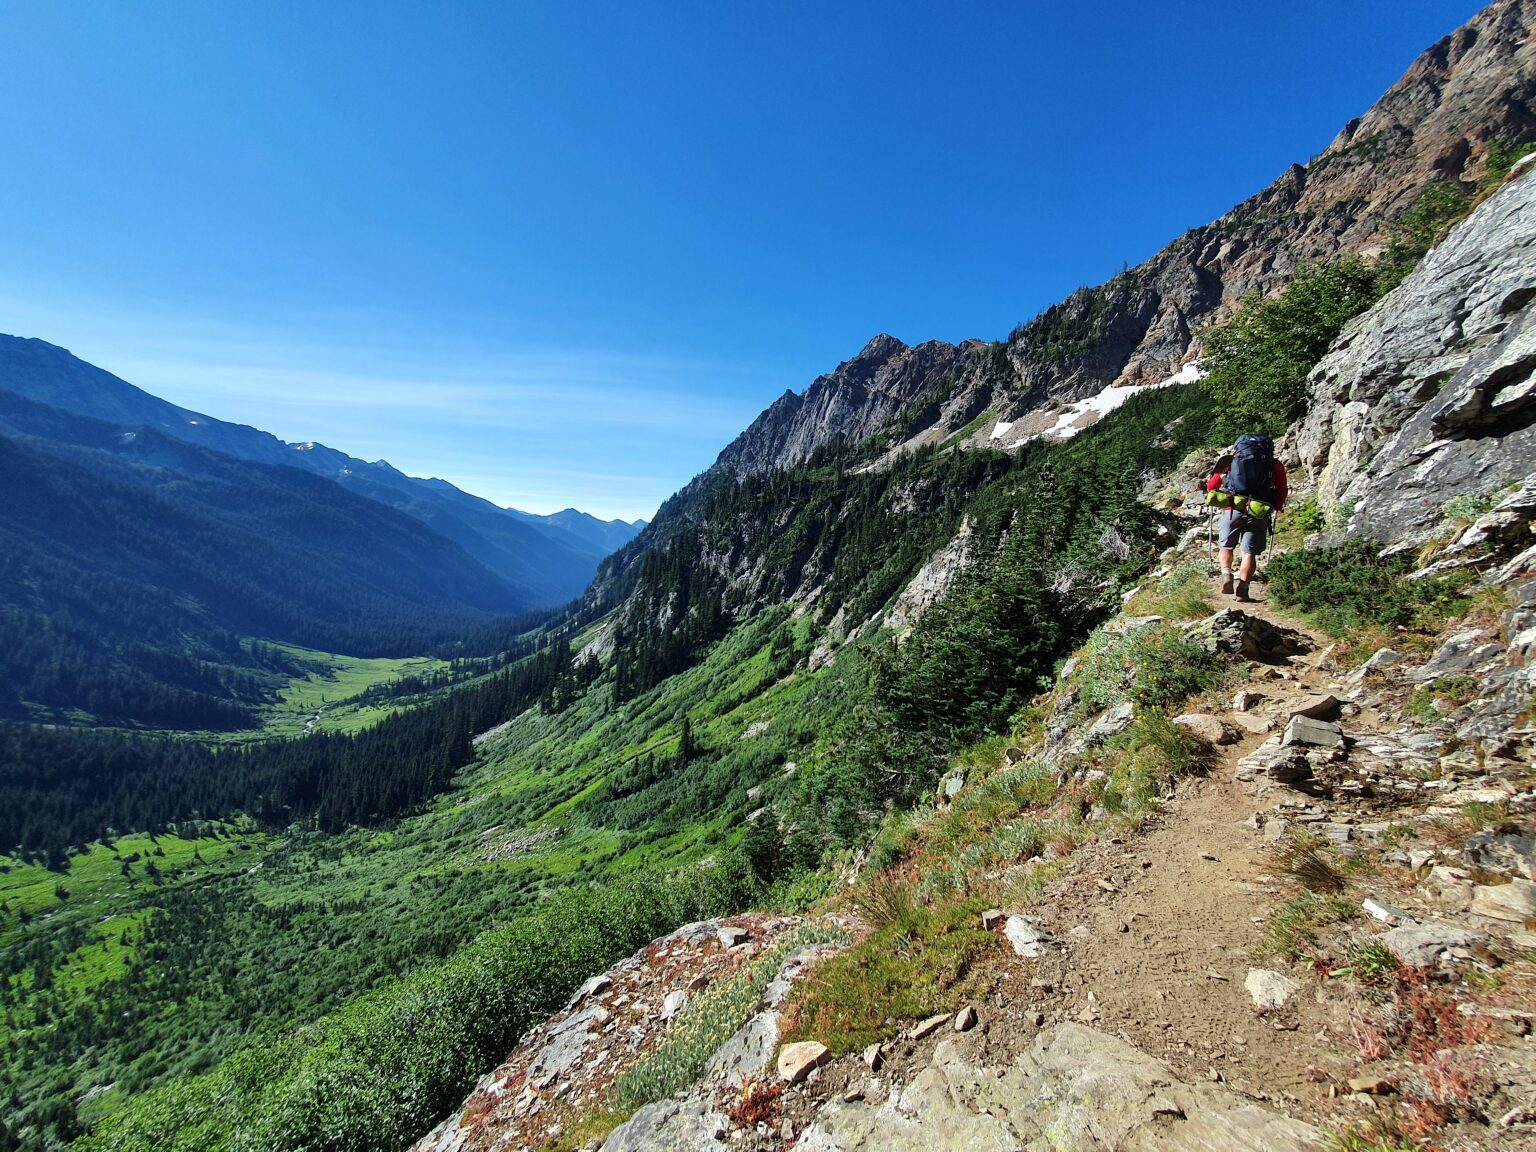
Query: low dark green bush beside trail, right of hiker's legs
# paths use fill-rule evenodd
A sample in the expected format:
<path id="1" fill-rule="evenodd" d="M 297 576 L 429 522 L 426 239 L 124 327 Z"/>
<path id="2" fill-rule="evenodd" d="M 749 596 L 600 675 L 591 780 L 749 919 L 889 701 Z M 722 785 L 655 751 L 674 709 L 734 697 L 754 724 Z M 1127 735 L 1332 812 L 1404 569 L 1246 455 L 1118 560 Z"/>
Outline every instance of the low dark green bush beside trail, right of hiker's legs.
<path id="1" fill-rule="evenodd" d="M 1335 548 L 1309 548 L 1276 556 L 1269 565 L 1269 593 L 1287 608 L 1299 608 L 1330 636 L 1364 625 L 1436 630 L 1467 608 L 1461 594 L 1467 576 L 1407 579 L 1407 556 L 1382 556 L 1378 545 L 1350 539 Z"/>

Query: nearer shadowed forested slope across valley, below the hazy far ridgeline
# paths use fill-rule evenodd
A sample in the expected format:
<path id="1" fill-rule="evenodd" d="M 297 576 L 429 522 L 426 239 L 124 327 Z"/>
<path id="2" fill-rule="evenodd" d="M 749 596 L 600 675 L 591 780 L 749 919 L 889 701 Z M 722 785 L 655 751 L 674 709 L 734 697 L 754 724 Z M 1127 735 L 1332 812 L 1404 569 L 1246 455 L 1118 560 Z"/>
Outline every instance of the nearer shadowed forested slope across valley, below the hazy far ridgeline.
<path id="1" fill-rule="evenodd" d="M 290 670 L 250 637 L 416 654 L 519 604 L 419 522 L 293 468 L 8 393 L 0 435 L 12 719 L 249 727 Z"/>

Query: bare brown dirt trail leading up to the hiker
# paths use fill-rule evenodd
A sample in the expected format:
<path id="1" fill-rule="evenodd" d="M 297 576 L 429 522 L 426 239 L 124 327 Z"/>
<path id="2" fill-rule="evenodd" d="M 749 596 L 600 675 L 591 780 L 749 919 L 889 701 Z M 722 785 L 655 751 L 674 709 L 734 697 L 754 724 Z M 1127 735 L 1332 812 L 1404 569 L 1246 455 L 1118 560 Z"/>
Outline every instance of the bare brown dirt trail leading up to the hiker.
<path id="1" fill-rule="evenodd" d="M 1338 688 L 1315 667 L 1321 636 L 1263 599 L 1218 599 L 1301 633 L 1312 647 L 1233 685 L 1263 693 L 1244 714 L 1252 727 L 1256 719 L 1283 728 L 1304 696 Z M 1232 720 L 1230 710 L 1213 714 Z M 1352 727 L 1375 719 L 1367 713 Z M 1071 874 L 1048 888 L 1041 919 L 1064 949 L 1055 977 L 1043 977 L 1052 985 L 1043 1011 L 1048 1023 L 1078 1020 L 1120 1034 L 1189 1077 L 1220 1078 L 1260 1100 L 1315 1101 L 1319 1081 L 1352 1072 L 1349 1021 L 1306 992 L 1281 1012 L 1256 1015 L 1244 988 L 1261 963 L 1253 955 L 1269 912 L 1284 899 L 1253 820 L 1279 800 L 1256 799 L 1235 780 L 1236 760 L 1264 737 L 1244 731 L 1218 750 L 1206 777 L 1180 782 L 1147 831 L 1084 846 Z"/>

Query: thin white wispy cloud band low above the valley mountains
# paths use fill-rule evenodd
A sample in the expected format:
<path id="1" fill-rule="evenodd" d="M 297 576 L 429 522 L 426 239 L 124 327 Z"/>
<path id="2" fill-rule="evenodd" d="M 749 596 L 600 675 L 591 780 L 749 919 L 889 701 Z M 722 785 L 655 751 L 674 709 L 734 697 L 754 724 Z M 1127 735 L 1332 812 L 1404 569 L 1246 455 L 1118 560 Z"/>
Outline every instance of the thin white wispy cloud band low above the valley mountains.
<path id="1" fill-rule="evenodd" d="M 8 298 L 0 329 L 289 441 L 389 459 L 531 511 L 650 516 L 785 384 L 770 369 L 409 332 L 389 316 L 249 324 L 155 303 Z"/>

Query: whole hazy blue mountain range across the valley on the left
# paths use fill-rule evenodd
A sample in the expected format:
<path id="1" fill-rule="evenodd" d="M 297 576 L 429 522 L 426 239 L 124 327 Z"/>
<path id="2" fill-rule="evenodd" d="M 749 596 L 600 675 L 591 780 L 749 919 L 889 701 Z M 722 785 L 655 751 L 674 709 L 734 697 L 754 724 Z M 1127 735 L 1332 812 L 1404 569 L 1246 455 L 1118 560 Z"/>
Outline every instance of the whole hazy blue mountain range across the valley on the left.
<path id="1" fill-rule="evenodd" d="M 644 527 L 284 444 L 15 336 L 0 492 L 0 716 L 174 728 L 250 720 L 286 671 L 250 639 L 496 651 L 495 621 L 573 599 Z"/>

